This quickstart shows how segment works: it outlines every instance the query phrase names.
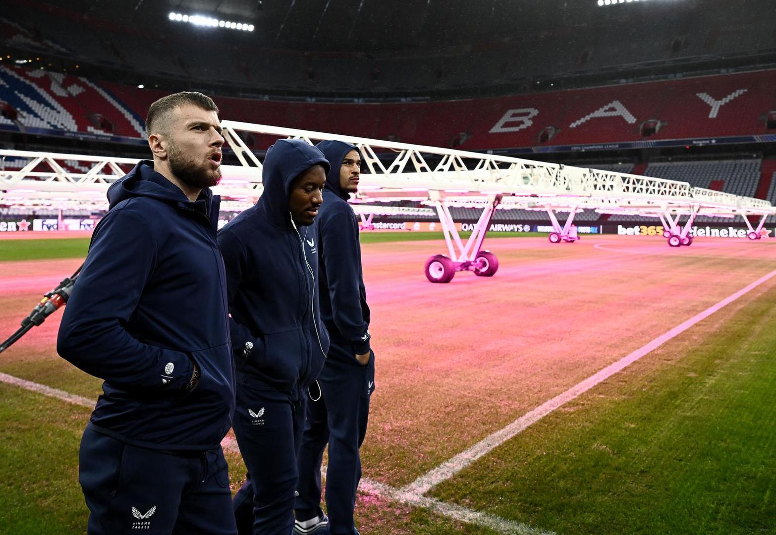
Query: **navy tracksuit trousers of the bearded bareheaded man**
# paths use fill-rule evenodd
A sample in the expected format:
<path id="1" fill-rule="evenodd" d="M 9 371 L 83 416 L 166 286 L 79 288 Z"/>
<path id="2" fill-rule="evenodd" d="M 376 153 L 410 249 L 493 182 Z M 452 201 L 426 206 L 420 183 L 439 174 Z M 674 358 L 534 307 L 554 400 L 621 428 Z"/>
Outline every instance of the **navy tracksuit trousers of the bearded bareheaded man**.
<path id="1" fill-rule="evenodd" d="M 86 428 L 78 482 L 88 535 L 234 535 L 223 450 L 151 450 Z"/>

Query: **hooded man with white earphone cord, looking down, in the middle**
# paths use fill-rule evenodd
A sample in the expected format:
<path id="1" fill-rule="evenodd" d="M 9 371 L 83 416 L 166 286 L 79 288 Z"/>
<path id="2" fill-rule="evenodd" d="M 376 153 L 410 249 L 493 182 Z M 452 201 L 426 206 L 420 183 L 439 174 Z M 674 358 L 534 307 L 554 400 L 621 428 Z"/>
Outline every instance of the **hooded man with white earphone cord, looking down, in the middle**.
<path id="1" fill-rule="evenodd" d="M 329 348 L 311 226 L 328 169 L 317 148 L 278 140 L 265 157 L 262 196 L 218 234 L 237 359 L 234 434 L 249 475 L 234 497 L 240 533 L 251 523 L 257 535 L 293 530 L 307 388 Z"/>

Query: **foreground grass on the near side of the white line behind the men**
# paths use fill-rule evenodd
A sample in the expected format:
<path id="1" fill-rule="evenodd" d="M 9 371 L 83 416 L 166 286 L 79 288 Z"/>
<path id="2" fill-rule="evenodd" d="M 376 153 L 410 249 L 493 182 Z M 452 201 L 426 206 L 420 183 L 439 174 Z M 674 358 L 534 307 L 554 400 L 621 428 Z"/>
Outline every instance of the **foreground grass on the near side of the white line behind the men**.
<path id="1" fill-rule="evenodd" d="M 0 383 L 0 533 L 84 533 L 88 518 L 78 485 L 78 444 L 89 409 Z M 233 491 L 244 464 L 227 454 Z M 359 495 L 364 535 L 496 535 L 424 509 Z"/>

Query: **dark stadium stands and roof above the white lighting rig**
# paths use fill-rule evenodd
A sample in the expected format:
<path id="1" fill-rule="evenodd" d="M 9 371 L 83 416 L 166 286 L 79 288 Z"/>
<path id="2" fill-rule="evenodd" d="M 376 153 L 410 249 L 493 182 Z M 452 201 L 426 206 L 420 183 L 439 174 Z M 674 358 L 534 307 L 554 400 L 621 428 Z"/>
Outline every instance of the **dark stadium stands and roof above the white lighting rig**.
<path id="1" fill-rule="evenodd" d="M 696 165 L 724 170 L 704 187 L 774 201 L 772 6 L 596 4 L 3 2 L 0 146 L 143 157 L 147 106 L 188 89 L 224 119 L 681 180 Z"/>

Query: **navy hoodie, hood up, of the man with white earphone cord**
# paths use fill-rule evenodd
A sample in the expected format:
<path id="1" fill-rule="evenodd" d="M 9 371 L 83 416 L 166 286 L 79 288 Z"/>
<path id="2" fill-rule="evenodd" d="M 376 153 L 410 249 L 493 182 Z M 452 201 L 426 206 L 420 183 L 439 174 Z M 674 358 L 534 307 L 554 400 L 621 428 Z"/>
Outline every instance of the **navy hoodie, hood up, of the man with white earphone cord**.
<path id="1" fill-rule="evenodd" d="M 315 164 L 329 170 L 309 143 L 278 140 L 267 150 L 262 196 L 218 233 L 237 369 L 256 388 L 289 395 L 315 381 L 329 350 L 318 310 L 315 225 L 297 229 L 289 212 L 291 182 Z M 246 342 L 253 348 L 242 357 Z"/>

